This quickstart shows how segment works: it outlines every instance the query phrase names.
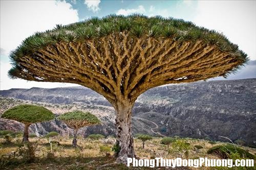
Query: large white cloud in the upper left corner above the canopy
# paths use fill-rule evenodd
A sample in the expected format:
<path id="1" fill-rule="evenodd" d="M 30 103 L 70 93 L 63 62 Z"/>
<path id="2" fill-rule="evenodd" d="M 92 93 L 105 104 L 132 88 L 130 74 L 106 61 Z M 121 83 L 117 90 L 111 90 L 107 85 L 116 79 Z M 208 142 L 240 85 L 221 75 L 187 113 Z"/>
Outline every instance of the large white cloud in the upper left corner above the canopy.
<path id="1" fill-rule="evenodd" d="M 1 1 L 0 11 L 0 44 L 5 55 L 37 31 L 78 21 L 77 10 L 65 1 Z"/>

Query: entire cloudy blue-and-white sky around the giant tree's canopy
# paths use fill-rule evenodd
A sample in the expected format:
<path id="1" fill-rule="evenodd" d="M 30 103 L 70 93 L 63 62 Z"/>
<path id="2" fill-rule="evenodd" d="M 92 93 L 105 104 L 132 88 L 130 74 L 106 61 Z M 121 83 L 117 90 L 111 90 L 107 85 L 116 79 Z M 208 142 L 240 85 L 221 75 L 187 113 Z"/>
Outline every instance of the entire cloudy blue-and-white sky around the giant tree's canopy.
<path id="1" fill-rule="evenodd" d="M 109 14 L 182 18 L 198 26 L 217 30 L 239 45 L 251 60 L 256 60 L 256 2 L 255 1 L 1 1 L 0 89 L 31 87 L 65 87 L 69 83 L 29 82 L 10 80 L 8 55 L 22 40 L 37 31 L 53 29 L 56 24 L 67 25 L 92 16 Z M 250 62 L 229 79 L 256 78 L 256 63 Z M 217 80 L 222 78 L 217 78 Z"/>

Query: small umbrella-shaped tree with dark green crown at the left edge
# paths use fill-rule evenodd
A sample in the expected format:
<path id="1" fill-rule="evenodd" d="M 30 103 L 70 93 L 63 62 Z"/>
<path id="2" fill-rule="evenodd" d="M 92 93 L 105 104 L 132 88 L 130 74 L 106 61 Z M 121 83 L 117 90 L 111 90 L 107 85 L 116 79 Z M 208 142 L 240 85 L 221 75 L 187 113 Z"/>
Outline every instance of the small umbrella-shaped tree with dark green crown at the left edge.
<path id="1" fill-rule="evenodd" d="M 8 109 L 2 114 L 2 118 L 16 120 L 25 125 L 22 142 L 29 141 L 29 126 L 33 123 L 48 122 L 54 119 L 54 114 L 41 106 L 19 105 Z"/>

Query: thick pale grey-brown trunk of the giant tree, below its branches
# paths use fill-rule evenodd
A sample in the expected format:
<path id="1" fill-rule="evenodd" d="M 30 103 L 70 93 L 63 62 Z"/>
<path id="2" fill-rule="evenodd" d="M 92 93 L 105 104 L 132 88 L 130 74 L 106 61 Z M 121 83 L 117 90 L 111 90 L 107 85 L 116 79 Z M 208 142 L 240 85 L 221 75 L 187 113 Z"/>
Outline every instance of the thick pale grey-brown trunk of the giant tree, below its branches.
<path id="1" fill-rule="evenodd" d="M 129 102 L 122 102 L 116 108 L 116 128 L 117 128 L 117 144 L 120 151 L 116 153 L 117 162 L 127 164 L 127 158 L 134 158 L 135 153 L 133 149 L 132 136 L 132 108 L 133 104 Z"/>

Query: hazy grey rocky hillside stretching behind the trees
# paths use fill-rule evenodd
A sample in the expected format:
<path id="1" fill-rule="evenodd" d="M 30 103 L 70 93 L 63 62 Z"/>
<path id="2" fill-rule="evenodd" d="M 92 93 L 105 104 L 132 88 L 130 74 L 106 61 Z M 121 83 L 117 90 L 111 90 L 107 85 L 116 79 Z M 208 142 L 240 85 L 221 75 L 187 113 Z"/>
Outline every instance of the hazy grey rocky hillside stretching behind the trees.
<path id="1" fill-rule="evenodd" d="M 104 132 L 94 128 L 89 133 L 115 134 L 114 110 L 103 96 L 85 87 L 31 88 L 0 91 L 2 97 L 43 102 L 51 108 L 88 109 L 96 107 L 97 114 L 109 115 L 103 120 Z M 8 99 L 1 99 L 2 101 Z M 1 107 L 9 104 L 1 102 Z M 63 107 L 62 107 L 63 106 Z M 106 108 L 102 110 L 101 108 Z M 5 109 L 1 108 L 1 112 Z M 93 110 L 93 109 L 92 109 Z M 102 112 L 102 113 L 100 113 Z M 133 110 L 134 133 L 151 133 L 152 128 L 166 136 L 182 136 L 222 140 L 243 139 L 256 143 L 256 79 L 209 81 L 156 87 L 139 96 Z M 141 117 L 143 119 L 137 118 Z M 104 118 L 104 116 L 102 117 Z M 145 120 L 146 119 L 146 120 Z M 153 123 L 158 125 L 157 128 Z M 0 129 L 6 128 L 0 123 Z M 53 124 L 57 124 L 53 123 Z M 61 128 L 56 125 L 56 128 Z M 57 131 L 58 131 L 57 128 Z M 54 129 L 54 128 L 53 128 Z M 51 130 L 53 130 L 51 129 Z M 32 129 L 33 131 L 33 129 Z M 60 131 L 60 130 L 59 130 Z M 62 133 L 65 133 L 63 131 Z M 85 132 L 83 132 L 85 133 Z"/>

